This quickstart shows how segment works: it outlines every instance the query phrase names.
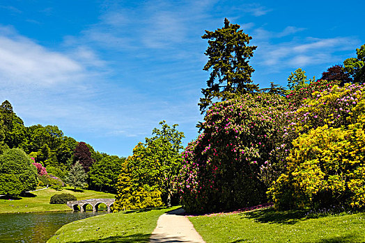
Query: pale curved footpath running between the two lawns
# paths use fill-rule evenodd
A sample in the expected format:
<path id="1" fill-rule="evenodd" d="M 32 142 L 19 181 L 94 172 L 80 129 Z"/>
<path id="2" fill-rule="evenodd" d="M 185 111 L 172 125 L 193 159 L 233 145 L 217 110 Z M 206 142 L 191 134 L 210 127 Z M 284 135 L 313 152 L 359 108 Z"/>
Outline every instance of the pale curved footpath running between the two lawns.
<path id="1" fill-rule="evenodd" d="M 184 212 L 183 208 L 178 208 L 161 215 L 150 236 L 150 242 L 205 243 L 189 219 L 182 215 Z"/>

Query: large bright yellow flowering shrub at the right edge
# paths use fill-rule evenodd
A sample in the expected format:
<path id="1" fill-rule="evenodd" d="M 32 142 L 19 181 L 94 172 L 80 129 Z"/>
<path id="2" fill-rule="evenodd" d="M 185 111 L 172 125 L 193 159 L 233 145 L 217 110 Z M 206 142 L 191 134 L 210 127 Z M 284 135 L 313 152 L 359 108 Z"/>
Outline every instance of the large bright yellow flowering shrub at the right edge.
<path id="1" fill-rule="evenodd" d="M 348 126 L 329 120 L 293 141 L 287 171 L 268 192 L 277 208 L 365 207 L 365 101 L 357 94 Z"/>

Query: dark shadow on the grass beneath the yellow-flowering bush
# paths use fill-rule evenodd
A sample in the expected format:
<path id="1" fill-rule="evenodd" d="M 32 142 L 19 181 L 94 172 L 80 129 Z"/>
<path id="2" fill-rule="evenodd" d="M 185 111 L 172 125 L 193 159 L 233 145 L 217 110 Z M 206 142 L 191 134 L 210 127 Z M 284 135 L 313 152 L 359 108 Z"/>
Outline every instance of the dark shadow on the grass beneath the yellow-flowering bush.
<path id="1" fill-rule="evenodd" d="M 277 211 L 274 208 L 265 208 L 251 212 L 241 213 L 242 217 L 254 219 L 260 223 L 269 224 L 295 224 L 305 218 L 304 210 Z"/>

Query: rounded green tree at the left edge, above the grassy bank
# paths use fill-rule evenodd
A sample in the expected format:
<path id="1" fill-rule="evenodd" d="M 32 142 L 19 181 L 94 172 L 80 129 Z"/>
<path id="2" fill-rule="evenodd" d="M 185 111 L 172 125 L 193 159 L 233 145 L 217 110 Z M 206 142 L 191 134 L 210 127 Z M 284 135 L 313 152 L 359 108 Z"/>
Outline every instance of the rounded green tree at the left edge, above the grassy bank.
<path id="1" fill-rule="evenodd" d="M 19 195 L 35 190 L 37 169 L 22 149 L 9 149 L 0 156 L 0 194 Z"/>

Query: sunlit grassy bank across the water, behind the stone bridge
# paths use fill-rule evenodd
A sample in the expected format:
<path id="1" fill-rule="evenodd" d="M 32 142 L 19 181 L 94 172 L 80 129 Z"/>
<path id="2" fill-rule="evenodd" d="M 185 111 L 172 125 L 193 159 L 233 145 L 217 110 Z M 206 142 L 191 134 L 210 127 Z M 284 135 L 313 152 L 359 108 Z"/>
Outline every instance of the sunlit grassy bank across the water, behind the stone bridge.
<path id="1" fill-rule="evenodd" d="M 14 200 L 0 197 L 0 213 L 16 212 L 46 212 L 46 211 L 65 211 L 72 210 L 65 204 L 49 204 L 49 199 L 54 194 L 69 193 L 76 196 L 77 200 L 83 199 L 114 199 L 114 194 L 95 192 L 91 190 L 72 190 L 71 187 L 63 187 L 62 191 L 56 191 L 52 188 L 31 192 L 26 196 L 20 196 Z M 103 205 L 103 204 L 102 204 Z"/>

